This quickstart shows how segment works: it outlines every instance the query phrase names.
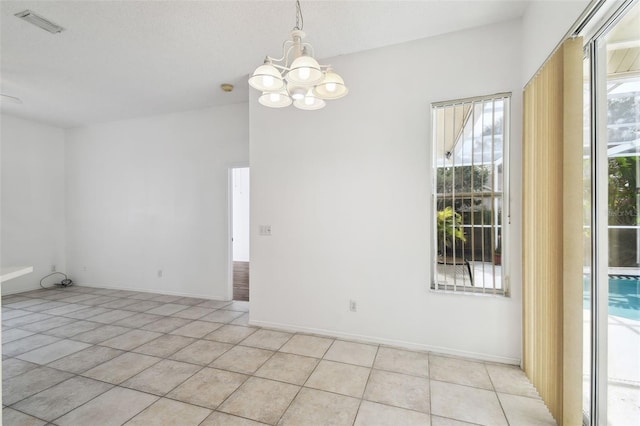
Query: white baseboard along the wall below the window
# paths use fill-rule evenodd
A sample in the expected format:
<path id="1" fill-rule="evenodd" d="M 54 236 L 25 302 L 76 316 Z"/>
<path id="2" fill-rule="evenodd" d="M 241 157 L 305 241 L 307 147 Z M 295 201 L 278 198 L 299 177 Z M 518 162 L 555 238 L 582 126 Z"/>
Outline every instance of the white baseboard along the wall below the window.
<path id="1" fill-rule="evenodd" d="M 288 332 L 300 332 L 308 334 L 316 334 L 319 336 L 333 337 L 338 339 L 346 339 L 360 343 L 373 343 L 385 346 L 394 346 L 403 349 L 409 349 L 413 351 L 434 352 L 443 355 L 450 355 L 460 358 L 469 358 L 478 361 L 495 362 L 499 364 L 509 364 L 520 366 L 520 360 L 517 358 L 501 357 L 491 354 L 484 354 L 479 352 L 461 351 L 457 349 L 445 348 L 442 346 L 425 345 L 422 343 L 405 342 L 402 340 L 384 339 L 374 336 L 364 336 L 359 334 L 342 333 L 332 330 L 324 330 L 311 327 L 300 327 L 290 324 L 279 324 L 268 321 L 254 321 L 249 319 L 249 325 L 257 327 L 271 328 L 275 330 L 288 331 Z"/>

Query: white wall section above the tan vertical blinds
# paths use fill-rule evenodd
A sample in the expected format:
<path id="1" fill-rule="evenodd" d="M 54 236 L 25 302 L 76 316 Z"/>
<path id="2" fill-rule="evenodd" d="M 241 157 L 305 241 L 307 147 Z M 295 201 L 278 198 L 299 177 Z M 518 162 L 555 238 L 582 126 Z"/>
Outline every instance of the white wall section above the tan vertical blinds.
<path id="1" fill-rule="evenodd" d="M 527 7 L 522 19 L 522 83 L 526 84 L 591 0 L 538 0 Z"/>

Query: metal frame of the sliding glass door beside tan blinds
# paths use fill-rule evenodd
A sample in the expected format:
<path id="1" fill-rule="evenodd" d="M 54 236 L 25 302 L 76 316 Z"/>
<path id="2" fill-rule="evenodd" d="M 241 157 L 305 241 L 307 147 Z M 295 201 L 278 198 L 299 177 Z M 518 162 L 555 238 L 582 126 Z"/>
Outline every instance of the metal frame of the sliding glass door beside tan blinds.
<path id="1" fill-rule="evenodd" d="M 581 24 L 576 35 L 584 37 L 585 60 L 589 61 L 589 139 L 591 144 L 591 264 L 589 321 L 589 405 L 583 406 L 583 425 L 608 421 L 608 154 L 607 144 L 607 52 L 602 43 L 608 32 L 638 0 L 600 0 Z M 584 392 L 584 390 L 583 390 Z"/>

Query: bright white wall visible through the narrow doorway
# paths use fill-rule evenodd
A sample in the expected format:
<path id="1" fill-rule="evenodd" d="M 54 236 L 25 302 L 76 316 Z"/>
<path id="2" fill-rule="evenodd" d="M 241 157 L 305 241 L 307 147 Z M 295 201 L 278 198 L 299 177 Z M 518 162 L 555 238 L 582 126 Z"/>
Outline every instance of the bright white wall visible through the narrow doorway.
<path id="1" fill-rule="evenodd" d="M 251 177 L 248 167 L 239 167 L 233 173 L 233 260 L 249 261 L 249 207 Z"/>

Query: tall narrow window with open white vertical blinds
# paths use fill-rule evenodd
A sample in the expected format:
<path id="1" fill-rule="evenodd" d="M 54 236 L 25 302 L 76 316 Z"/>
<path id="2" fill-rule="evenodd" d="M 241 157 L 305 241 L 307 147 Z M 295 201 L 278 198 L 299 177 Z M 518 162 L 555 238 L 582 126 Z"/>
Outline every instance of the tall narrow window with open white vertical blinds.
<path id="1" fill-rule="evenodd" d="M 435 290 L 508 295 L 510 94 L 432 105 Z"/>

